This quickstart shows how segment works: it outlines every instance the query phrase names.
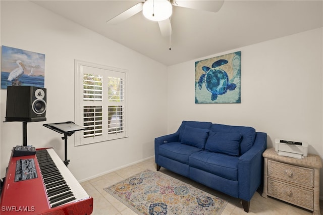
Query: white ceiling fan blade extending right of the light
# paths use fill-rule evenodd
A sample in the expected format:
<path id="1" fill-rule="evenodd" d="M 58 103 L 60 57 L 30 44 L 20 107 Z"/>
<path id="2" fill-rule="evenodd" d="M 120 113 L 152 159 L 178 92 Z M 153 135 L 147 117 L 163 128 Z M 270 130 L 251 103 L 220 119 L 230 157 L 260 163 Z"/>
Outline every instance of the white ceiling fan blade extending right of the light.
<path id="1" fill-rule="evenodd" d="M 183 8 L 218 12 L 224 3 L 224 0 L 172 0 L 171 3 L 174 6 Z"/>

